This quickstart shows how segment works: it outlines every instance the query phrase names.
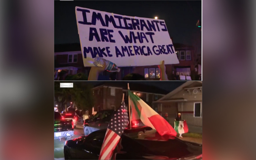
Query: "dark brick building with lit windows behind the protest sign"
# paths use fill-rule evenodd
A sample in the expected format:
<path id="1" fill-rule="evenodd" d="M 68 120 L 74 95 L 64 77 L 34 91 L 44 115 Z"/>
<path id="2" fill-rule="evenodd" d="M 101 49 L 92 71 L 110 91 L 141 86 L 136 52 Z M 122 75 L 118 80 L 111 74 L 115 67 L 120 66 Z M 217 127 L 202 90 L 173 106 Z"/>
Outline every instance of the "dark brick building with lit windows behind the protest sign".
<path id="1" fill-rule="evenodd" d="M 166 74 L 169 80 L 175 80 L 176 73 L 181 75 L 191 75 L 195 71 L 196 57 L 192 46 L 182 44 L 173 44 L 176 55 L 180 61 L 179 64 L 165 65 Z M 112 76 L 112 79 L 122 80 L 129 73 L 139 73 L 146 80 L 160 80 L 160 69 L 157 65 L 141 67 L 120 67 L 121 71 L 111 73 L 104 71 L 104 76 Z M 86 76 L 90 73 L 91 67 L 84 67 L 80 44 L 55 45 L 54 48 L 54 78 L 60 79 L 60 72 L 66 71 L 66 74 L 84 73 Z M 197 69 L 198 70 L 198 69 Z M 114 76 L 113 76 L 113 75 Z M 192 80 L 194 80 L 192 78 Z"/>

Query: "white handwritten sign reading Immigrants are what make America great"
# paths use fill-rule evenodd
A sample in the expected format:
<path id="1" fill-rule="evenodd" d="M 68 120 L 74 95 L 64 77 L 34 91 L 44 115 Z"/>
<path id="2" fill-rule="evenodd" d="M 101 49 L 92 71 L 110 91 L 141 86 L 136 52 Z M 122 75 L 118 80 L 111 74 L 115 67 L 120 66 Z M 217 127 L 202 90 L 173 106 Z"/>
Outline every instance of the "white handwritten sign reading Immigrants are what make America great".
<path id="1" fill-rule="evenodd" d="M 97 56 L 119 67 L 179 63 L 164 20 L 82 7 L 75 13 L 84 66 Z"/>

